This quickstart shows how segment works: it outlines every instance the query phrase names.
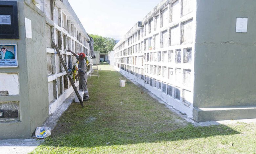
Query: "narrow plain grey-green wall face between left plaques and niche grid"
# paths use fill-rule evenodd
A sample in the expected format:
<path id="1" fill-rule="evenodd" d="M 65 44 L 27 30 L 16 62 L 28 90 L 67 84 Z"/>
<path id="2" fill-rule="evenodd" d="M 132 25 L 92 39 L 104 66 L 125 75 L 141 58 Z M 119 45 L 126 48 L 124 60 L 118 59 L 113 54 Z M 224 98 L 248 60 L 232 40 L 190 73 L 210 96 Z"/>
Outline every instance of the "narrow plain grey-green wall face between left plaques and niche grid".
<path id="1" fill-rule="evenodd" d="M 26 38 L 29 110 L 31 133 L 49 116 L 48 80 L 46 65 L 45 17 L 30 6 L 24 6 L 25 17 L 32 23 L 32 39 Z"/>

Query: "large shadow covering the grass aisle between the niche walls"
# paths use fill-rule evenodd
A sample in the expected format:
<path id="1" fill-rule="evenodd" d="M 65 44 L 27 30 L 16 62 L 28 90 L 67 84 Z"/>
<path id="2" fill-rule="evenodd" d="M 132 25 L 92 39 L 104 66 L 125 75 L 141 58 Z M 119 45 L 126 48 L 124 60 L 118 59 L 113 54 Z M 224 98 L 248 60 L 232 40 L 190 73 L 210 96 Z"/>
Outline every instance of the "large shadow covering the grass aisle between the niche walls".
<path id="1" fill-rule="evenodd" d="M 90 100 L 84 108 L 73 103 L 43 146 L 99 147 L 240 134 L 225 125 L 195 127 L 136 85 L 119 87 L 120 77 L 104 70 L 99 79 L 88 80 Z"/>

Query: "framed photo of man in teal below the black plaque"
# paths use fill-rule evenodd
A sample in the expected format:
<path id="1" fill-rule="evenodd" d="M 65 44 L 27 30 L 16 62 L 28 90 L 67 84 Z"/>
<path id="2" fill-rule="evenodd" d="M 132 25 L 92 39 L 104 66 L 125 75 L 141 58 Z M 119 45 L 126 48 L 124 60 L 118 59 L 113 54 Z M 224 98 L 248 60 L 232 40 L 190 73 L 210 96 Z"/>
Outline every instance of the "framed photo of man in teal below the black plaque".
<path id="1" fill-rule="evenodd" d="M 18 67 L 17 44 L 0 44 L 0 67 Z"/>

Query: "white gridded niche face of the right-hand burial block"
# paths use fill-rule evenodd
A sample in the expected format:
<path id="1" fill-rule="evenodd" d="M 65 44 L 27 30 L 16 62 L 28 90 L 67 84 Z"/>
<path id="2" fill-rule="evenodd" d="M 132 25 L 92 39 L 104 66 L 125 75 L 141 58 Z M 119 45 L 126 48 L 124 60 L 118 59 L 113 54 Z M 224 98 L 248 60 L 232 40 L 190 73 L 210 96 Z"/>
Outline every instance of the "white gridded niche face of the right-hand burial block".
<path id="1" fill-rule="evenodd" d="M 192 117 L 195 0 L 161 1 L 114 47 L 122 73 Z"/>

